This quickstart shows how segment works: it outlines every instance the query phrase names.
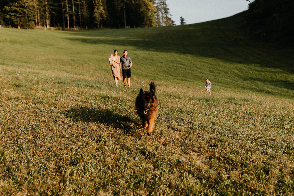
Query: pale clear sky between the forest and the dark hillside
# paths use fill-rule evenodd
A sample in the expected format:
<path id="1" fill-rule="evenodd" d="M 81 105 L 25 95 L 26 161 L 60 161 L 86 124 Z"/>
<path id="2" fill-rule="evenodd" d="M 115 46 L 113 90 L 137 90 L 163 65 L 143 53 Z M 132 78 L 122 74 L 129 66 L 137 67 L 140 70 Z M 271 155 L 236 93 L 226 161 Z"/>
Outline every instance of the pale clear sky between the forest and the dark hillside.
<path id="1" fill-rule="evenodd" d="M 166 0 L 171 19 L 176 25 L 180 17 L 187 24 L 205 22 L 233 16 L 248 9 L 246 0 Z"/>

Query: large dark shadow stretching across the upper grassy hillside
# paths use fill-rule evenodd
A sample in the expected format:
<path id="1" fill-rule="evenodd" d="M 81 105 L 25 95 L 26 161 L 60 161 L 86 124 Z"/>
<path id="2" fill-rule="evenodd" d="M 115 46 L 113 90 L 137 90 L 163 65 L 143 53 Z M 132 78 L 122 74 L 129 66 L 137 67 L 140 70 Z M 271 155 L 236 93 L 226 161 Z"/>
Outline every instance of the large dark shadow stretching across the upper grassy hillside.
<path id="1" fill-rule="evenodd" d="M 286 49 L 280 42 L 252 38 L 243 15 L 183 26 L 68 32 L 74 37 L 67 39 L 93 45 L 136 47 L 158 53 L 188 53 L 294 73 L 292 48 Z M 119 51 L 119 55 L 121 53 Z"/>

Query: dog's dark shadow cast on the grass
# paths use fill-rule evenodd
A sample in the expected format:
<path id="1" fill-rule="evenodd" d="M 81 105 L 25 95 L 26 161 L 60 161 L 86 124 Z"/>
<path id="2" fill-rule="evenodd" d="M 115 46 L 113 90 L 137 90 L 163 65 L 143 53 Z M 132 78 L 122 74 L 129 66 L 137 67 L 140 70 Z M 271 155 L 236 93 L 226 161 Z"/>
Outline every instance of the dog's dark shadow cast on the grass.
<path id="1" fill-rule="evenodd" d="M 140 127 L 136 120 L 131 119 L 130 115 L 124 116 L 106 109 L 75 107 L 66 111 L 64 115 L 78 122 L 94 122 L 120 129 L 125 135 L 132 135 L 134 133 L 132 130 Z"/>

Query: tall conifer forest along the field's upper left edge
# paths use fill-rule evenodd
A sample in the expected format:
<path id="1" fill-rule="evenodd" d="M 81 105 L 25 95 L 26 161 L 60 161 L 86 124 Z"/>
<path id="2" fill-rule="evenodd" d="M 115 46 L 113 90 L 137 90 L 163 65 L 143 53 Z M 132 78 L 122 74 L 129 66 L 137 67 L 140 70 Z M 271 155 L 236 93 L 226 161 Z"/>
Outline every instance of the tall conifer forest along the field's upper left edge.
<path id="1" fill-rule="evenodd" d="M 0 0 L 0 24 L 14 28 L 171 26 L 166 0 Z"/>

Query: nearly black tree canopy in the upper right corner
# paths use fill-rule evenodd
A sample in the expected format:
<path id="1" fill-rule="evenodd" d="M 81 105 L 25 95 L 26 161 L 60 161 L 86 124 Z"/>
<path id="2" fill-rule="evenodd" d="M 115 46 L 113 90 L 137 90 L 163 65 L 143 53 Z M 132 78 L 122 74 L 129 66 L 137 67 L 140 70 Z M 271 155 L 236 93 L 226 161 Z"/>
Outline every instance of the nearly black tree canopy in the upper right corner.
<path id="1" fill-rule="evenodd" d="M 261 36 L 294 35 L 293 0 L 247 0 L 251 30 Z"/>

